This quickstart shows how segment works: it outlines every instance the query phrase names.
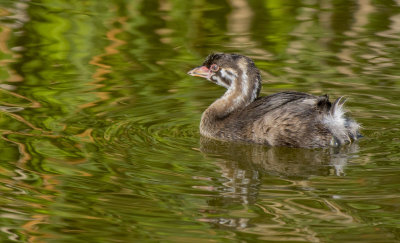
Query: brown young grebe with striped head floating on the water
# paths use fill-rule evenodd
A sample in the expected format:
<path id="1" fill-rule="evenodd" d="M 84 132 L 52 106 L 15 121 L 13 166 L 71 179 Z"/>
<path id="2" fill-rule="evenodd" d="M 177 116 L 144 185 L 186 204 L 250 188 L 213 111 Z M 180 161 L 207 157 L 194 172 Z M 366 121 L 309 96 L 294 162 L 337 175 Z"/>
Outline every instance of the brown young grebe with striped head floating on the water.
<path id="1" fill-rule="evenodd" d="M 259 97 L 260 72 L 253 61 L 237 54 L 209 55 L 188 72 L 227 88 L 203 113 L 201 135 L 270 146 L 325 147 L 357 140 L 359 125 L 345 117 L 340 97 L 285 91 Z"/>

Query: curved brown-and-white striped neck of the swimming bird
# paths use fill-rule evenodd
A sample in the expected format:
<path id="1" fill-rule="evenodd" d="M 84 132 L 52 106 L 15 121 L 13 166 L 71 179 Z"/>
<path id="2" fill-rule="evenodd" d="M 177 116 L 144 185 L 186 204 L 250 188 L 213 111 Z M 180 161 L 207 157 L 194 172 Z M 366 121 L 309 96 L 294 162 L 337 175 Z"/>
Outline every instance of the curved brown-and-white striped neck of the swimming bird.
<path id="1" fill-rule="evenodd" d="M 233 112 L 248 106 L 257 98 L 260 88 L 258 72 L 252 75 L 247 72 L 238 73 L 225 94 L 204 111 L 200 123 L 201 133 L 204 135 L 206 131 L 212 131 Z"/>

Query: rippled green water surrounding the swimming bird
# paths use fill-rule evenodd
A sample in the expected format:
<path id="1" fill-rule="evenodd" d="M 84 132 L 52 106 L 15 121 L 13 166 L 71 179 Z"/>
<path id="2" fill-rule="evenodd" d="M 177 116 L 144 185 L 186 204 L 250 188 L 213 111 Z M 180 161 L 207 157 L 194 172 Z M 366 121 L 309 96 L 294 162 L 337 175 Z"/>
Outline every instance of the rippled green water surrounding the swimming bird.
<path id="1" fill-rule="evenodd" d="M 399 46 L 398 0 L 2 0 L 1 242 L 398 242 Z M 346 95 L 365 137 L 201 139 L 212 51 Z"/>

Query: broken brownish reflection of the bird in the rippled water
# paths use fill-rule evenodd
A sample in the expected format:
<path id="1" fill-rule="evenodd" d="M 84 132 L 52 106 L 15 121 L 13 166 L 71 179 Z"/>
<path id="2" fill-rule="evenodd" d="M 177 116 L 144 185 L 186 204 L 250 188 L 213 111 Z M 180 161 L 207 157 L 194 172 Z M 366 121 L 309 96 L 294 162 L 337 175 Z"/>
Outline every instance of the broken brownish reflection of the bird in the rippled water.
<path id="1" fill-rule="evenodd" d="M 201 137 L 200 151 L 216 159 L 216 165 L 225 179 L 222 186 L 216 189 L 218 195 L 209 200 L 208 204 L 224 208 L 254 205 L 260 189 L 268 187 L 267 182 L 262 180 L 263 177 L 279 177 L 278 179 L 289 181 L 289 186 L 312 191 L 312 188 L 307 188 L 308 178 L 344 176 L 348 160 L 356 156 L 358 150 L 356 143 L 340 147 L 301 149 L 223 142 Z M 340 215 L 342 216 L 344 215 Z M 246 217 L 203 220 L 234 228 L 246 228 L 249 223 Z"/>

